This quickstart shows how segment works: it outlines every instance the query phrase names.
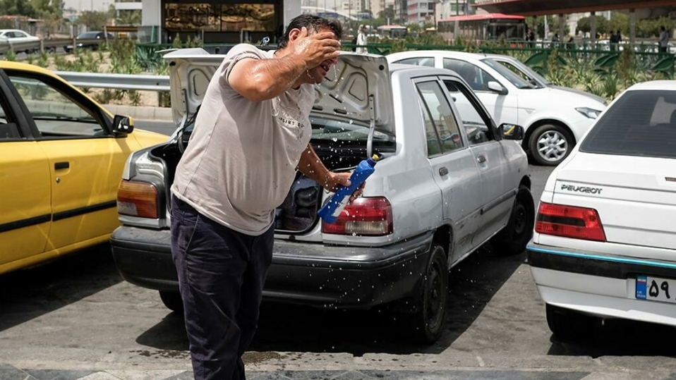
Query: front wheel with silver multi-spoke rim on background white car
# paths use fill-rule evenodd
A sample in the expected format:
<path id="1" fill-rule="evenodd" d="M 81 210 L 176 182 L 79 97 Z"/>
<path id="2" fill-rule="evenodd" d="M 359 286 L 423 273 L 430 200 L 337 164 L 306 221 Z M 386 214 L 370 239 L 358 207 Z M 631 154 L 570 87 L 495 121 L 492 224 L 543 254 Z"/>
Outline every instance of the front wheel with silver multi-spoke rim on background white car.
<path id="1" fill-rule="evenodd" d="M 560 125 L 540 125 L 531 135 L 531 157 L 541 165 L 556 166 L 568 157 L 574 146 L 570 133 Z"/>

